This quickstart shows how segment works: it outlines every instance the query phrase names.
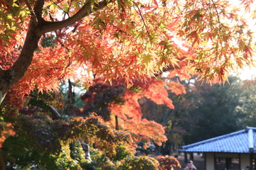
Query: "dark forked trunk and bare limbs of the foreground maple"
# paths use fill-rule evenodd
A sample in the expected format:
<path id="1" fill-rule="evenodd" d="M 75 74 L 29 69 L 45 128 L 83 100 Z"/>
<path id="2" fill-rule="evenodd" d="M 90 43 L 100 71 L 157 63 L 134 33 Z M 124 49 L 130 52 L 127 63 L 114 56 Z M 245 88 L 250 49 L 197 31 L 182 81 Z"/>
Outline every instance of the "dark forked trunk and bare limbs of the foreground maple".
<path id="1" fill-rule="evenodd" d="M 23 77 L 29 65 L 31 64 L 33 52 L 38 47 L 38 40 L 41 38 L 41 35 L 43 35 L 43 33 L 70 26 L 76 21 L 79 21 L 81 18 L 88 16 L 90 13 L 107 6 L 107 4 L 111 2 L 112 1 L 107 2 L 107 0 L 101 1 L 98 4 L 94 4 L 93 9 L 91 7 L 91 3 L 88 2 L 87 4 L 82 6 L 78 13 L 75 13 L 74 16 L 66 19 L 65 21 L 47 22 L 44 21 L 42 18 L 44 0 L 38 0 L 33 7 L 33 12 L 36 15 L 37 21 L 35 21 L 32 16 L 31 22 L 28 26 L 26 40 L 24 42 L 18 60 L 10 69 L 0 72 L 0 76 L 4 77 L 3 79 L 0 79 L 0 84 L 4 84 L 1 85 L 0 91 L 3 91 L 3 94 L 7 93 L 11 86 L 16 84 L 16 82 Z"/>

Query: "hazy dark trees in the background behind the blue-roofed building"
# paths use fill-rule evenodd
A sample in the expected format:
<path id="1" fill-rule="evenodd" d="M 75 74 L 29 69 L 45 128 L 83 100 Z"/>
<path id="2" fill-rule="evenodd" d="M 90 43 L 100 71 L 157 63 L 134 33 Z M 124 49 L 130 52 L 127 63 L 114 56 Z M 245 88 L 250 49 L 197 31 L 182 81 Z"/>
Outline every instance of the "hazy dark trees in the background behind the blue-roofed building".
<path id="1" fill-rule="evenodd" d="M 182 75 L 171 80 L 180 82 L 186 89 L 186 93 L 178 95 L 169 91 L 175 108 L 157 106 L 146 98 L 140 101 L 143 117 L 166 127 L 168 140 L 161 149 L 163 154 L 175 152 L 184 143 L 190 144 L 245 128 L 244 121 L 249 117 L 238 108 L 241 107 L 242 98 L 248 98 L 242 94 L 242 84 L 247 81 L 230 77 L 229 84 L 210 85 L 196 81 L 196 78 L 183 80 Z M 166 81 L 170 81 L 169 78 Z"/>

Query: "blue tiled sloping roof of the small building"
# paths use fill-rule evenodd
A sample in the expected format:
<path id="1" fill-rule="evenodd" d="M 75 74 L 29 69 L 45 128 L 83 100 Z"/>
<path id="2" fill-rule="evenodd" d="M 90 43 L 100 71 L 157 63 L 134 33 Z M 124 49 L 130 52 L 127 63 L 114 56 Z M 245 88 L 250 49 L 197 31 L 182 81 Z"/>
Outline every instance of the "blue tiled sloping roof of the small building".
<path id="1" fill-rule="evenodd" d="M 248 136 L 251 130 L 253 137 Z M 253 139 L 253 141 L 251 141 Z M 253 142 L 253 148 L 249 148 L 249 142 Z M 229 153 L 256 153 L 256 128 L 247 127 L 227 135 L 213 137 L 191 145 L 183 146 L 182 152 L 229 152 Z"/>

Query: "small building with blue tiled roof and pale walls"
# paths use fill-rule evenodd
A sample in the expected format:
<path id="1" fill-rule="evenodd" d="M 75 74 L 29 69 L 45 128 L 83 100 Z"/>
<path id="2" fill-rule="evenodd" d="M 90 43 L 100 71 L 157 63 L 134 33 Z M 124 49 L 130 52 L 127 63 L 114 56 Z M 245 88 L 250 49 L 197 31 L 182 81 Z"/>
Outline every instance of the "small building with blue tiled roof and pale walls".
<path id="1" fill-rule="evenodd" d="M 206 170 L 240 170 L 250 166 L 256 170 L 256 128 L 247 127 L 227 135 L 213 137 L 180 149 L 193 160 L 193 153 L 203 153 Z"/>

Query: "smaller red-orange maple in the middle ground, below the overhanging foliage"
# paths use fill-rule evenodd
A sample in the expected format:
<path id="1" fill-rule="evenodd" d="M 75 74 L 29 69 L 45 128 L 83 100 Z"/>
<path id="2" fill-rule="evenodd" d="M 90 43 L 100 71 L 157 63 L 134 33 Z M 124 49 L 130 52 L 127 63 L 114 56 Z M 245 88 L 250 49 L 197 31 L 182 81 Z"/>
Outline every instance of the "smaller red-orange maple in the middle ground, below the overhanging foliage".
<path id="1" fill-rule="evenodd" d="M 163 88 L 163 86 L 159 87 Z M 86 105 L 79 115 L 88 116 L 92 113 L 100 115 L 113 128 L 131 133 L 134 142 L 142 139 L 148 142 L 154 140 L 157 145 L 161 145 L 161 142 L 166 141 L 164 127 L 154 121 L 142 119 L 138 98 L 148 93 L 146 88 L 140 93 L 135 93 L 131 89 L 124 88 L 123 85 L 110 86 L 97 83 L 95 86 L 90 86 L 88 91 L 81 96 L 82 100 L 86 101 Z M 163 95 L 161 98 L 165 99 L 168 96 Z M 115 116 L 115 123 L 111 115 Z"/>

